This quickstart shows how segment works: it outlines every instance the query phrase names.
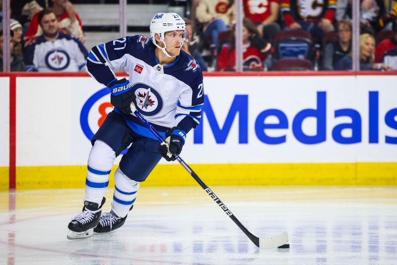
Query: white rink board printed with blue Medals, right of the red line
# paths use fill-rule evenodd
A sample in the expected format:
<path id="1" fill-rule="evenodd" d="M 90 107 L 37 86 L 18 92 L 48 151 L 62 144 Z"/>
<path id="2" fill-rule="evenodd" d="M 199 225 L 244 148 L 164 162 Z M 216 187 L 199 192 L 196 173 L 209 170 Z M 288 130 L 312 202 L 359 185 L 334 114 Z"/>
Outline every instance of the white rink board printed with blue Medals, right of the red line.
<path id="1" fill-rule="evenodd" d="M 202 143 L 198 143 L 199 130 L 195 131 L 195 137 L 189 133 L 182 156 L 192 164 L 396 162 L 397 144 L 385 140 L 386 136 L 394 141 L 397 138 L 396 84 L 397 76 L 392 75 L 204 77 L 211 108 L 205 106 Z M 103 88 L 90 77 L 18 77 L 17 166 L 85 165 L 91 146 L 86 134 L 98 129 L 100 110 L 102 113 L 111 110 L 108 90 Z M 379 129 L 373 126 L 376 123 L 372 122 L 371 126 L 369 123 L 370 93 L 371 117 L 378 117 L 379 125 L 375 127 Z M 317 110 L 318 96 L 325 98 L 326 106 L 320 104 Z M 231 109 L 233 100 L 235 109 L 248 113 L 240 124 L 242 132 L 239 132 L 239 114 L 234 117 Z M 374 102 L 379 102 L 379 111 Z M 306 113 L 321 118 L 320 131 L 325 133 L 324 137 L 318 137 L 319 143 L 308 144 L 295 135 L 299 128 L 307 136 L 316 135 L 314 117 L 308 116 L 301 126 L 296 123 L 297 130 L 292 129 L 297 114 L 307 109 L 313 110 Z M 323 109 L 324 112 L 320 111 Z M 361 139 L 356 143 L 339 143 L 332 135 L 335 127 L 352 123 L 346 116 L 335 118 L 335 111 L 340 109 L 358 114 L 354 121 L 361 121 L 361 126 L 355 132 L 359 133 L 361 128 Z M 208 111 L 213 112 L 216 124 L 212 119 L 210 125 Z M 256 130 L 257 119 L 257 126 L 264 123 L 258 118 L 264 111 L 285 116 L 285 128 Z M 224 126 L 228 114 L 229 119 L 234 117 L 229 123 L 230 130 Z M 276 116 L 265 119 L 266 124 L 278 122 Z M 377 142 L 369 142 L 370 131 L 371 141 L 377 139 Z M 219 140 L 221 134 L 227 135 L 226 140 Z M 285 141 L 268 144 L 261 141 L 264 135 L 285 136 Z M 341 136 L 351 137 L 352 130 L 342 130 Z"/>

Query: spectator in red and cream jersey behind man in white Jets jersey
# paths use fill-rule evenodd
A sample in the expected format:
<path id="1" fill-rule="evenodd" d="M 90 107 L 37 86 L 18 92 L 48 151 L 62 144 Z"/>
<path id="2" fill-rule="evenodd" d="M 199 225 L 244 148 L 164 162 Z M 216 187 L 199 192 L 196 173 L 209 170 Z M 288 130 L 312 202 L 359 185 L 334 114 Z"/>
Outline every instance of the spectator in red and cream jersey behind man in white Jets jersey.
<path id="1" fill-rule="evenodd" d="M 51 0 L 53 2 L 53 10 L 59 20 L 59 28 L 63 33 L 69 34 L 80 42 L 84 43 L 85 37 L 80 17 L 74 10 L 74 6 L 68 0 Z M 38 36 L 43 33 L 38 20 L 39 12 L 37 12 L 30 22 L 29 28 L 24 37 L 25 47 L 30 45 Z"/>

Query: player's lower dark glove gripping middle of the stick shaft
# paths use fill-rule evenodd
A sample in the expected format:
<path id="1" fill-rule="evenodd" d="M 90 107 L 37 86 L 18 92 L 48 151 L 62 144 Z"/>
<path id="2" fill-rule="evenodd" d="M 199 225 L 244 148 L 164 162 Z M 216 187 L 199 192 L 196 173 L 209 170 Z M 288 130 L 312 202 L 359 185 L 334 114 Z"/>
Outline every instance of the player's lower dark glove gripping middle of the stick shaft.
<path id="1" fill-rule="evenodd" d="M 165 133 L 165 142 L 162 142 L 158 146 L 158 150 L 162 157 L 167 161 L 175 161 L 174 154 L 180 154 L 182 146 L 185 143 L 186 133 L 181 127 L 173 127 Z"/>

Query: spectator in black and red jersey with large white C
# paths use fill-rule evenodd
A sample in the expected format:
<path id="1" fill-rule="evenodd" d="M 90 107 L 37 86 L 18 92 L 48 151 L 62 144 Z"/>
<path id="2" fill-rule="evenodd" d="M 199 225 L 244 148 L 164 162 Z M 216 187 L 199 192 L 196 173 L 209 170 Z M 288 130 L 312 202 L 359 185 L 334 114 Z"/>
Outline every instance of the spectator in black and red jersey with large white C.
<path id="1" fill-rule="evenodd" d="M 315 43 L 322 43 L 324 32 L 334 30 L 336 0 L 281 0 L 281 13 L 288 29 L 310 32 Z"/>

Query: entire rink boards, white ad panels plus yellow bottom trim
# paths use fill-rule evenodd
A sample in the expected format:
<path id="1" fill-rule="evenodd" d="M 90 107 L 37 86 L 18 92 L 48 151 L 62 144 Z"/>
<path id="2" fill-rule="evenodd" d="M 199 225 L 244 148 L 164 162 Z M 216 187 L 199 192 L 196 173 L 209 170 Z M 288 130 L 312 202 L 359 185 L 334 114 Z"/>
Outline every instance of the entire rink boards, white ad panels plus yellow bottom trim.
<path id="1" fill-rule="evenodd" d="M 0 188 L 13 163 L 16 188 L 83 187 L 110 91 L 84 74 L 2 75 L 0 89 Z M 397 185 L 397 75 L 211 74 L 204 91 L 182 157 L 208 185 Z M 194 180 L 162 160 L 143 185 Z"/>

